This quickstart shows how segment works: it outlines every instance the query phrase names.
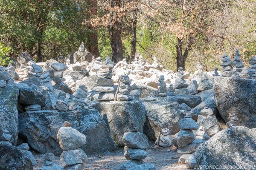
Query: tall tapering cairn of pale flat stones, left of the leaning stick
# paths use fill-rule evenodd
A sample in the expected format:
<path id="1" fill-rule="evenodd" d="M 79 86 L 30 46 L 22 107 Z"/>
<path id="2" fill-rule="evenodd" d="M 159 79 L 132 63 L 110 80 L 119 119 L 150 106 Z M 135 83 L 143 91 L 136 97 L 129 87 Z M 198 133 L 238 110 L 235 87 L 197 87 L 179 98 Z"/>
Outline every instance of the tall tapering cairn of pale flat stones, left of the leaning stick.
<path id="1" fill-rule="evenodd" d="M 111 61 L 110 57 L 107 57 L 103 62 L 102 69 L 97 72 L 96 87 L 93 91 L 99 92 L 93 95 L 93 99 L 96 101 L 111 101 L 114 99 L 114 83 L 111 79 L 112 68 L 114 67 L 114 62 Z"/>

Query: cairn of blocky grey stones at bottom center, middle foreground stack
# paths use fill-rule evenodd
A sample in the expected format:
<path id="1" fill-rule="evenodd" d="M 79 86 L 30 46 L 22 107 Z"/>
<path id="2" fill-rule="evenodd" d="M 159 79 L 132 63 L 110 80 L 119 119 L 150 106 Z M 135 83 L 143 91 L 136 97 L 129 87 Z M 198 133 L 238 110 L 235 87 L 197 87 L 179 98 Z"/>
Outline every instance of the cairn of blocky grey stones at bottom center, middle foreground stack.
<path id="1" fill-rule="evenodd" d="M 125 144 L 124 156 L 130 160 L 122 164 L 120 170 L 156 170 L 153 164 L 144 163 L 148 153 L 148 137 L 140 132 L 127 132 L 124 133 L 122 140 Z"/>

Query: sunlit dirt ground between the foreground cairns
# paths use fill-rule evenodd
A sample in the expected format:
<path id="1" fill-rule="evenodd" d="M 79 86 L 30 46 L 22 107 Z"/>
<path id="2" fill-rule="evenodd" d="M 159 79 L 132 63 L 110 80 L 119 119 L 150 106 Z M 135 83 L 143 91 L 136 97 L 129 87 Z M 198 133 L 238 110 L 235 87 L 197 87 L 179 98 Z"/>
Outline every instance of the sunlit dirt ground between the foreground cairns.
<path id="1" fill-rule="evenodd" d="M 154 164 L 157 170 L 187 170 L 185 164 L 179 164 L 179 154 L 168 148 L 148 149 L 148 157 L 143 161 Z M 88 156 L 84 170 L 118 170 L 127 161 L 123 156 L 124 150 L 119 149 L 113 153 Z M 44 154 L 33 154 L 37 161 L 35 170 L 40 170 L 44 165 Z M 59 157 L 55 156 L 55 162 L 59 162 Z"/>

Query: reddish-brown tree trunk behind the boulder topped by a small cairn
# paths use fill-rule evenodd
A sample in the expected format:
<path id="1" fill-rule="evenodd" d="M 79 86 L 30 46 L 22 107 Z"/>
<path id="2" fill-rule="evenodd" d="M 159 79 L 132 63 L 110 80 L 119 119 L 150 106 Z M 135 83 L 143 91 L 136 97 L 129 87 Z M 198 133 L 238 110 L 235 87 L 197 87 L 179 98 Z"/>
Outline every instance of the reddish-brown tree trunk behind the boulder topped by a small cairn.
<path id="1" fill-rule="evenodd" d="M 97 0 L 90 0 L 89 11 L 92 15 L 97 14 Z M 93 54 L 94 57 L 99 57 L 99 47 L 98 47 L 98 31 L 97 28 L 90 26 L 90 30 L 93 30 L 92 34 L 88 34 L 89 41 L 89 52 Z"/>

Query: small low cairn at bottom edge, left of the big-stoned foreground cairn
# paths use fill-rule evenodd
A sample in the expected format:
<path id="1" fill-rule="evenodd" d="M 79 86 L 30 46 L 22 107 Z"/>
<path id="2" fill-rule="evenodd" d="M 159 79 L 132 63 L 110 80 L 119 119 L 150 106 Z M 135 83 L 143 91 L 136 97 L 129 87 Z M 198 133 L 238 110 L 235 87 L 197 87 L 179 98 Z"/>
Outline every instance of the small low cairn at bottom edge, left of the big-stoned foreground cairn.
<path id="1" fill-rule="evenodd" d="M 53 153 L 45 153 L 44 166 L 40 170 L 63 170 L 63 167 L 54 163 Z"/>

